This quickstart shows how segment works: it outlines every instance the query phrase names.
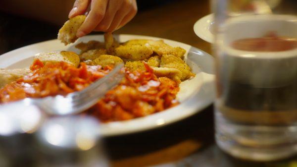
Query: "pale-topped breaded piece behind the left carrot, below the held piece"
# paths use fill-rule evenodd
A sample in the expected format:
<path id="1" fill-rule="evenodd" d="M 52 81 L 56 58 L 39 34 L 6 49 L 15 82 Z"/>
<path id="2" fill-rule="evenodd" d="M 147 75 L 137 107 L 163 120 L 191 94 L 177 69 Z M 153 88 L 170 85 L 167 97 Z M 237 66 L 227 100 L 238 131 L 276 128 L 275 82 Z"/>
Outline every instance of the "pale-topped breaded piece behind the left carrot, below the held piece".
<path id="1" fill-rule="evenodd" d="M 39 53 L 34 56 L 34 60 L 39 59 L 43 63 L 46 62 L 60 62 L 64 61 L 77 67 L 80 62 L 79 56 L 74 52 L 60 51 L 60 52 L 46 52 Z"/>

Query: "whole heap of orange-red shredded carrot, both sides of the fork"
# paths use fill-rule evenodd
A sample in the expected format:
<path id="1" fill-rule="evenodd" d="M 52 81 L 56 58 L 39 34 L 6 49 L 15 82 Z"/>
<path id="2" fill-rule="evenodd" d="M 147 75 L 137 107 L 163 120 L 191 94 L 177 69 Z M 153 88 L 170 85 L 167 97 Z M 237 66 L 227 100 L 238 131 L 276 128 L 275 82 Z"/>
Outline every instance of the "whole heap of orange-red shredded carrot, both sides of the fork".
<path id="1" fill-rule="evenodd" d="M 178 105 L 178 84 L 167 78 L 157 78 L 145 63 L 145 71 L 125 70 L 125 77 L 104 98 L 85 113 L 103 122 L 128 120 L 163 111 Z M 46 63 L 35 60 L 32 72 L 0 89 L 0 103 L 24 98 L 43 98 L 80 91 L 105 76 L 112 67 L 74 67 L 66 62 Z"/>

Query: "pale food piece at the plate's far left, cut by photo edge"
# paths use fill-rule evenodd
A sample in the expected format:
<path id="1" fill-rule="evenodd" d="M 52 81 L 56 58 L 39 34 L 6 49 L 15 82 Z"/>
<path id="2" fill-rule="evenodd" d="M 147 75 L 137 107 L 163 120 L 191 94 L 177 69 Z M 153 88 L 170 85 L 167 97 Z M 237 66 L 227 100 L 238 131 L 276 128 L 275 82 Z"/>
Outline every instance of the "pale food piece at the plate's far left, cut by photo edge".
<path id="1" fill-rule="evenodd" d="M 0 88 L 4 87 L 17 79 L 29 74 L 31 70 L 29 68 L 21 69 L 0 69 Z"/>

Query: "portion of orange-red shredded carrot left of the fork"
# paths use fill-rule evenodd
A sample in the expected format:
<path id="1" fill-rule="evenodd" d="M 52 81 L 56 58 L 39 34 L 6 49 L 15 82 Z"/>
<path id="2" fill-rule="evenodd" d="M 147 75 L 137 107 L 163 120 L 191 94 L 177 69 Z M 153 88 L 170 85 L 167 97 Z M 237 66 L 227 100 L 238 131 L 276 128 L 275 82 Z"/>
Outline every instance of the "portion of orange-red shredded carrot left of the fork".
<path id="1" fill-rule="evenodd" d="M 110 69 L 87 66 L 85 63 L 75 67 L 64 61 L 43 63 L 36 59 L 30 67 L 30 73 L 0 89 L 0 103 L 80 91 L 106 75 Z"/>

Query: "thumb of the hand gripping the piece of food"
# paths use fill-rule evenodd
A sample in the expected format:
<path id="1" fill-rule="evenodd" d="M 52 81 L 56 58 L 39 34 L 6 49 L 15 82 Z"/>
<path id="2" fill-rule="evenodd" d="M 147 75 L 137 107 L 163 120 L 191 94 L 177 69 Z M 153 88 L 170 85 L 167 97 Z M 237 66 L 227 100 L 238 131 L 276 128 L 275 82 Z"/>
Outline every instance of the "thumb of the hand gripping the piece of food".
<path id="1" fill-rule="evenodd" d="M 72 18 L 72 17 L 75 17 L 77 15 L 84 14 L 88 9 L 90 1 L 91 0 L 75 0 L 73 8 L 69 12 L 68 17 Z"/>

